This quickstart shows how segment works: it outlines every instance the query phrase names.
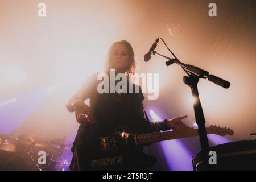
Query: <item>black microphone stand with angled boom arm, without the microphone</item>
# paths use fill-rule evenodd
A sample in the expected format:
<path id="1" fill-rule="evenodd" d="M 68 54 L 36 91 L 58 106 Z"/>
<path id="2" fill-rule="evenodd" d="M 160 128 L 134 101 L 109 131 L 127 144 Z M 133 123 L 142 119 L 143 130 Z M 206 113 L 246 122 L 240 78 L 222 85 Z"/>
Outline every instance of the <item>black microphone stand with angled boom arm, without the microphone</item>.
<path id="1" fill-rule="evenodd" d="M 207 138 L 207 132 L 205 129 L 204 113 L 203 113 L 203 108 L 202 108 L 200 98 L 199 98 L 197 83 L 199 82 L 200 78 L 204 78 L 209 81 L 212 81 L 215 84 L 220 85 L 224 88 L 229 88 L 230 83 L 228 81 L 222 80 L 221 78 L 219 78 L 217 76 L 209 75 L 209 72 L 204 71 L 203 69 L 200 69 L 193 65 L 181 63 L 173 53 L 172 53 L 172 55 L 174 55 L 175 59 L 171 59 L 170 57 L 161 55 L 160 53 L 158 53 L 156 51 L 153 51 L 152 53 L 153 53 L 153 55 L 159 55 L 159 56 L 162 56 L 162 57 L 168 59 L 168 61 L 166 61 L 167 67 L 169 65 L 175 63 L 175 64 L 179 65 L 181 68 L 183 68 L 184 71 L 188 75 L 188 76 L 183 77 L 183 81 L 186 85 L 188 85 L 191 88 L 192 96 L 193 96 L 193 98 L 195 98 L 193 107 L 194 107 L 194 111 L 195 111 L 195 118 L 196 118 L 196 123 L 198 126 L 198 131 L 199 131 L 201 152 L 203 155 L 203 161 L 205 161 L 205 166 L 203 168 L 207 169 L 209 167 L 208 154 L 209 154 L 210 147 L 209 147 L 209 142 L 208 142 L 208 138 Z"/>

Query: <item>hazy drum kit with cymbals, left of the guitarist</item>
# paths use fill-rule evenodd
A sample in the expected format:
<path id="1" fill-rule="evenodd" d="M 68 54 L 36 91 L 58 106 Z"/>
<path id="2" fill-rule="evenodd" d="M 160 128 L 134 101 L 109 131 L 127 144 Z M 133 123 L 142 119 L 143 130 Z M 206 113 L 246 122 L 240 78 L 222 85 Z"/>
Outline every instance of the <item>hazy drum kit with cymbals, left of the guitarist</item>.
<path id="1" fill-rule="evenodd" d="M 46 140 L 30 135 L 15 138 L 0 134 L 0 170 L 66 171 L 69 162 L 63 152 L 71 147 L 72 142 L 66 137 Z M 44 163 L 39 163 L 39 158 Z"/>

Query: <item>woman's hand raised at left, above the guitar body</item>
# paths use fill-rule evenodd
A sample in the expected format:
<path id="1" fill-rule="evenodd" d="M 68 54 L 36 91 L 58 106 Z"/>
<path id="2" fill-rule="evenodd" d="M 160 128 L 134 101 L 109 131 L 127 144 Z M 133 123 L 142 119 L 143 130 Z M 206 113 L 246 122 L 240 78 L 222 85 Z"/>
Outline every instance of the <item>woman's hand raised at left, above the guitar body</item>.
<path id="1" fill-rule="evenodd" d="M 83 122 L 94 122 L 94 118 L 92 115 L 92 111 L 90 110 L 90 107 L 86 105 L 83 101 L 76 101 L 74 103 L 74 109 L 76 121 L 78 123 L 81 124 Z"/>

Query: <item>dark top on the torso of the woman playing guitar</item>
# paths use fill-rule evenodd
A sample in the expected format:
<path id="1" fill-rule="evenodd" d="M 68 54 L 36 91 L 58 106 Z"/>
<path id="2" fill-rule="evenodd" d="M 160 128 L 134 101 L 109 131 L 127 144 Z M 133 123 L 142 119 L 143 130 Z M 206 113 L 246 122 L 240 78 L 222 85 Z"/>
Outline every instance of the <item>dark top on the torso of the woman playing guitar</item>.
<path id="1" fill-rule="evenodd" d="M 117 127 L 122 127 L 133 133 L 149 131 L 149 122 L 144 126 L 147 127 L 145 129 L 138 123 L 142 121 L 139 118 L 144 118 L 143 99 L 141 92 L 98 94 L 97 104 L 94 109 L 97 129 L 103 135 L 113 134 Z"/>

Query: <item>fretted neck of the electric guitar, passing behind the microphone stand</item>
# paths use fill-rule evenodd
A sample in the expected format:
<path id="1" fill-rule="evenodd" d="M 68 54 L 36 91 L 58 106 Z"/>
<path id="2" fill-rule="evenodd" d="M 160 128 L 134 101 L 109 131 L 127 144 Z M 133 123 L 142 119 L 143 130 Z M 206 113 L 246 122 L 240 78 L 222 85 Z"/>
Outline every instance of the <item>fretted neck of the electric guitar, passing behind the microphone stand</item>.
<path id="1" fill-rule="evenodd" d="M 207 134 L 212 134 L 209 127 L 206 128 Z M 155 142 L 161 142 L 164 140 L 171 140 L 177 138 L 185 138 L 185 137 L 195 137 L 199 135 L 198 129 L 188 129 L 182 131 L 167 131 L 167 132 L 154 132 L 147 134 L 138 134 L 135 135 L 135 139 L 137 144 L 145 145 L 151 144 Z"/>

